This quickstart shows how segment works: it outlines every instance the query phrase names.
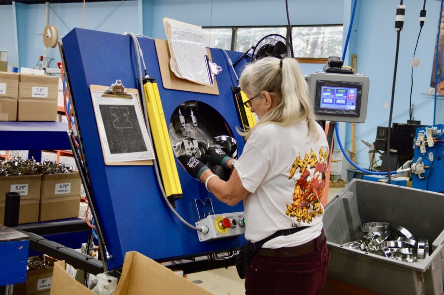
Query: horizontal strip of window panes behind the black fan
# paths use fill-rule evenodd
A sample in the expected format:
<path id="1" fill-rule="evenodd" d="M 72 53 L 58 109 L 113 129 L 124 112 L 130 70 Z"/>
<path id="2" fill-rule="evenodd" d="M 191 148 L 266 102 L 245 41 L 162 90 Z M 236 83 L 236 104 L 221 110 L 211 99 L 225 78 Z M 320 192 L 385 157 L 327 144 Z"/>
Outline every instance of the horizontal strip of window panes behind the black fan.
<path id="1" fill-rule="evenodd" d="M 204 27 L 203 31 L 206 46 L 240 52 L 246 52 L 269 34 L 279 34 L 287 39 L 289 36 L 288 26 Z M 328 56 L 342 56 L 343 25 L 294 26 L 292 39 L 299 62 L 303 63 L 305 59 L 308 63 L 324 63 Z"/>

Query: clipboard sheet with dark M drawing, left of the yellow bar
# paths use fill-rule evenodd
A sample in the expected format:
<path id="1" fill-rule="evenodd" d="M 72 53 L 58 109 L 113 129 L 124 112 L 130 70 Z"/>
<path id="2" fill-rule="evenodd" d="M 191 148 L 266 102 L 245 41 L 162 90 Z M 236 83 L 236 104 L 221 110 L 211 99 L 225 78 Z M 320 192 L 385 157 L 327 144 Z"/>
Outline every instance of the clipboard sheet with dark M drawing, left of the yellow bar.
<path id="1" fill-rule="evenodd" d="M 106 165 L 152 165 L 154 150 L 146 130 L 137 89 L 131 98 L 102 96 L 104 86 L 91 85 L 97 129 Z"/>

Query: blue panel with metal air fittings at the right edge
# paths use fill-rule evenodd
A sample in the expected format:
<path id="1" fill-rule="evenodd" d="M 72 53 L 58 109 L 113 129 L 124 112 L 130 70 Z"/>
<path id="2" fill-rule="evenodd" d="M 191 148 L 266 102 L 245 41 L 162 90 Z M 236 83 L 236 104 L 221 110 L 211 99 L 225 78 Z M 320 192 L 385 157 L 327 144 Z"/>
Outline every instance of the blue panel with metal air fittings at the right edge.
<path id="1" fill-rule="evenodd" d="M 424 168 L 413 171 L 412 187 L 431 192 L 444 192 L 444 125 L 418 128 L 415 138 L 415 160 L 421 157 Z M 422 166 L 422 165 L 421 165 Z"/>

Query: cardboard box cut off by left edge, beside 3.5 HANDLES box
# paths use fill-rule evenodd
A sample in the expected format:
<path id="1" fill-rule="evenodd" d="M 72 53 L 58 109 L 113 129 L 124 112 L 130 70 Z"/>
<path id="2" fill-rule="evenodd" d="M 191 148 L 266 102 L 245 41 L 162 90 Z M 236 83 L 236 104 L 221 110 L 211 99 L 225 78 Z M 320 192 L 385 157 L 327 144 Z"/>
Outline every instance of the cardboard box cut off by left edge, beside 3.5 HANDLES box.
<path id="1" fill-rule="evenodd" d="M 17 73 L 0 72 L 0 121 L 17 120 L 19 78 Z"/>

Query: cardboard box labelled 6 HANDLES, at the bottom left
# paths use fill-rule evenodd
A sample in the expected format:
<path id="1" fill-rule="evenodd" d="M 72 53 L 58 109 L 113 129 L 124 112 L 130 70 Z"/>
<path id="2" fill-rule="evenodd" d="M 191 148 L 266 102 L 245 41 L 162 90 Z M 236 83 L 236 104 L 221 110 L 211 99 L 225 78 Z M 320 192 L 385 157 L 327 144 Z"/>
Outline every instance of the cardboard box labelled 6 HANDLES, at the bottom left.
<path id="1" fill-rule="evenodd" d="M 45 260 L 49 261 L 49 267 L 28 270 L 26 282 L 15 284 L 13 295 L 49 295 L 55 260 L 48 256 L 45 256 Z"/>

